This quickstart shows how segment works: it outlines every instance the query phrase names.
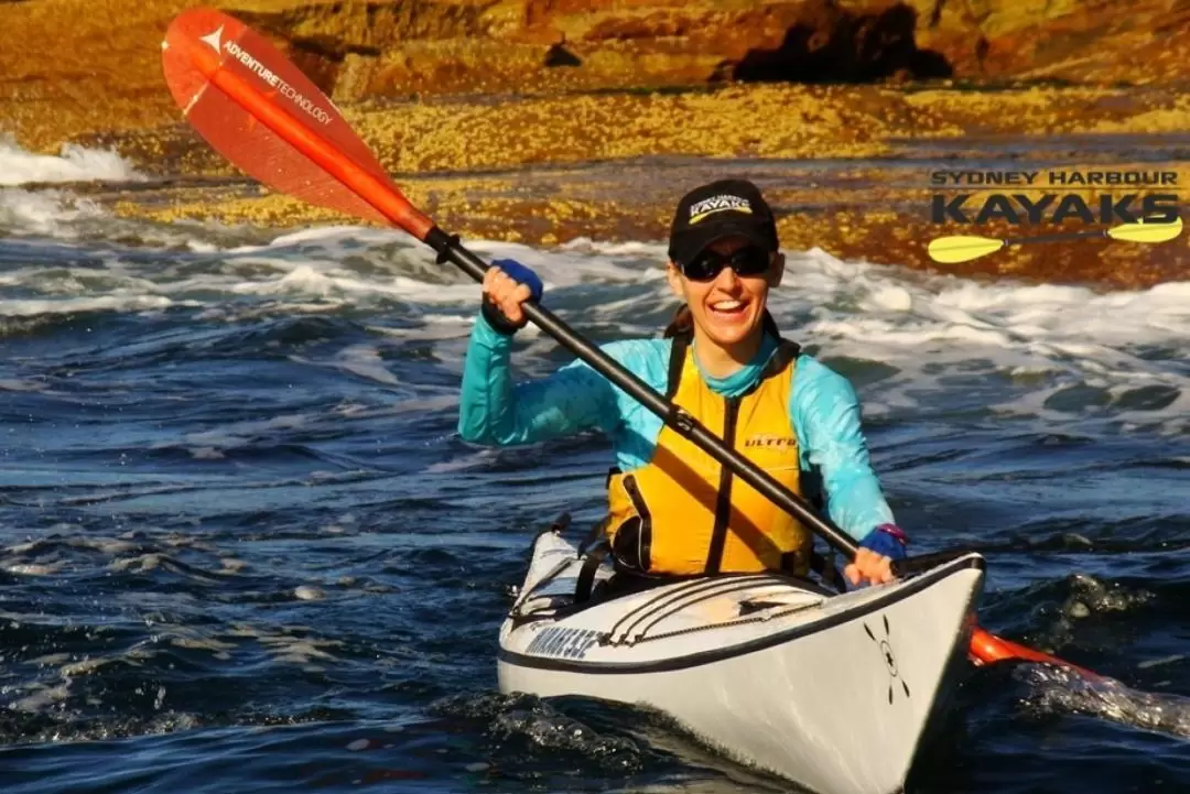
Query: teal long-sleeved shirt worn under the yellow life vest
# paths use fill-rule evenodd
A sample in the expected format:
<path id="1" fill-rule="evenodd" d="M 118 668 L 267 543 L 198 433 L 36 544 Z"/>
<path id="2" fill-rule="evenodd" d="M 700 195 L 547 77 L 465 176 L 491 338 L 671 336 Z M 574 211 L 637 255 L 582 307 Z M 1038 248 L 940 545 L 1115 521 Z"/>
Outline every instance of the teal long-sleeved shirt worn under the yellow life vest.
<path id="1" fill-rule="evenodd" d="M 633 339 L 601 349 L 659 393 L 665 393 L 670 339 Z M 777 341 L 765 336 L 757 358 L 727 378 L 703 378 L 713 391 L 733 397 L 760 377 Z M 616 466 L 631 472 L 647 464 L 664 427 L 588 364 L 576 360 L 545 378 L 513 383 L 512 339 L 478 316 L 468 344 L 459 397 L 458 431 L 487 446 L 534 443 L 584 430 L 612 440 Z M 697 360 L 697 359 L 696 359 Z M 857 541 L 892 523 L 892 511 L 871 468 L 851 383 L 813 357 L 793 367 L 789 416 L 803 474 L 821 483 L 831 519 Z"/>

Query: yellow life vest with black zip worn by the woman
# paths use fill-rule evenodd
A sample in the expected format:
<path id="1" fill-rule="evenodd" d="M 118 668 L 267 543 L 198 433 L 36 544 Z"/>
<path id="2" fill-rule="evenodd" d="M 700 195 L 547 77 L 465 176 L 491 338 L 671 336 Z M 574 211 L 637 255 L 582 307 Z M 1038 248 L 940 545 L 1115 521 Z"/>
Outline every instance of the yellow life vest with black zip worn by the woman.
<path id="1" fill-rule="evenodd" d="M 701 378 L 688 334 L 674 339 L 666 397 L 801 496 L 789 416 L 798 347 L 782 341 L 756 386 L 716 395 Z M 787 571 L 804 575 L 813 535 L 693 441 L 665 426 L 652 460 L 608 475 L 603 522 L 618 567 L 660 575 Z"/>

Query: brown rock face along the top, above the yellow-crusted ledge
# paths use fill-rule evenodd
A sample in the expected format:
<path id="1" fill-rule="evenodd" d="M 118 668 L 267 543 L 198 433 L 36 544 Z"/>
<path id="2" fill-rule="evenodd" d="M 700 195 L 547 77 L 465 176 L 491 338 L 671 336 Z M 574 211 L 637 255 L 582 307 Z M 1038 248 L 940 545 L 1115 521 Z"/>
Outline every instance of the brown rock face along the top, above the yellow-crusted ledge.
<path id="1" fill-rule="evenodd" d="M 188 0 L 0 5 L 0 127 L 38 147 L 176 118 L 157 45 Z M 337 101 L 725 82 L 1190 75 L 1185 0 L 224 0 Z"/>

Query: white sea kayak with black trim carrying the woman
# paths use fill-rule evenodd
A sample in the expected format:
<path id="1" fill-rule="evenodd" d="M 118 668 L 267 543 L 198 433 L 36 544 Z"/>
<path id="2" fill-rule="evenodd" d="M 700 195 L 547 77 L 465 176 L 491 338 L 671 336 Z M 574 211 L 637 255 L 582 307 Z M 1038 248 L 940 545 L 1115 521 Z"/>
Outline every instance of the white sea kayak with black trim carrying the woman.
<path id="1" fill-rule="evenodd" d="M 500 630 L 501 692 L 656 708 L 818 794 L 902 790 L 964 664 L 984 579 L 970 554 L 843 594 L 722 574 L 576 604 L 582 565 L 559 533 L 534 540 Z"/>

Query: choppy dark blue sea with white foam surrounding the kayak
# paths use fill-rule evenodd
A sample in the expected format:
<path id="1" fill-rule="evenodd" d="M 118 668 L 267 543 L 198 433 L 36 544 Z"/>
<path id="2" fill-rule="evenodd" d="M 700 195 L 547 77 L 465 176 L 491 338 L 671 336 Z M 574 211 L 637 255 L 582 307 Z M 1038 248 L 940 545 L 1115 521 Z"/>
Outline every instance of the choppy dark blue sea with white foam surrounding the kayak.
<path id="1" fill-rule="evenodd" d="M 532 531 L 599 437 L 455 434 L 478 290 L 401 233 L 118 220 L 0 147 L 5 792 L 772 792 L 659 716 L 496 692 Z M 643 241 L 470 241 L 596 341 L 672 303 Z M 790 252 L 775 314 L 848 377 L 917 550 L 983 624 L 1109 676 L 972 670 L 912 790 L 1190 786 L 1190 283 L 978 284 Z M 569 359 L 530 328 L 524 376 Z M 549 481 L 546 478 L 549 477 Z"/>

